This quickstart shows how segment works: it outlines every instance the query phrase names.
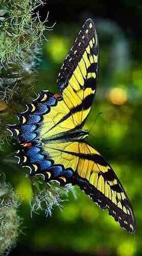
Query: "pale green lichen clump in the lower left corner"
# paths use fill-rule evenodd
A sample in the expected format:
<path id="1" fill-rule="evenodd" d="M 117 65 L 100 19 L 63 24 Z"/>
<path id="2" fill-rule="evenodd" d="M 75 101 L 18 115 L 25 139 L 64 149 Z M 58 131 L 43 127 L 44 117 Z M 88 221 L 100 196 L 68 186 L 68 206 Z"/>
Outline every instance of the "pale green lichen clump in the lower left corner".
<path id="1" fill-rule="evenodd" d="M 0 176 L 0 255 L 10 251 L 20 232 L 22 219 L 17 214 L 19 199 L 9 184 Z"/>

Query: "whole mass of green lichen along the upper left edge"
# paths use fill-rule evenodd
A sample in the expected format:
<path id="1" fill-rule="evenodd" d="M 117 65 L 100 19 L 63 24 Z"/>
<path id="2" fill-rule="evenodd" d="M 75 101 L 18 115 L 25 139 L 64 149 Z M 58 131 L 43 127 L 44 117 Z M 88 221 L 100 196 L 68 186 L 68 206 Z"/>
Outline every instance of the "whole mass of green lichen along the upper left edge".
<path id="1" fill-rule="evenodd" d="M 0 149 L 8 139 L 4 124 L 13 120 L 34 94 L 36 65 L 48 21 L 47 16 L 41 22 L 35 13 L 39 5 L 42 0 L 0 2 Z"/>

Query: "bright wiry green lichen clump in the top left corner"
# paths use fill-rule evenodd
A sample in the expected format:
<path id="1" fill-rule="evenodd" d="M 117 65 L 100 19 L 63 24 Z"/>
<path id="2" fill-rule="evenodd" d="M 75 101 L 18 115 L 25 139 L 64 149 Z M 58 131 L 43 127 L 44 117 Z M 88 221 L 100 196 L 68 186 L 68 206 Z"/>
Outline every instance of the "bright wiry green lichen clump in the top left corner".
<path id="1" fill-rule="evenodd" d="M 45 24 L 34 16 L 42 0 L 1 0 L 0 59 L 1 63 L 25 61 L 27 51 L 41 41 Z M 26 60 L 27 61 L 27 60 Z"/>

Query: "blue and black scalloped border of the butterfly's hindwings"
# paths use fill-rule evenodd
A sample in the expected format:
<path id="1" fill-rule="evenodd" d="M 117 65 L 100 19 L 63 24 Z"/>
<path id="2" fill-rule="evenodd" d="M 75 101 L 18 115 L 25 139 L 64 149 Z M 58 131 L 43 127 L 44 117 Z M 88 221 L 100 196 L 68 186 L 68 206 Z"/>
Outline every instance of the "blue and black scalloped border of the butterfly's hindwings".
<path id="1" fill-rule="evenodd" d="M 24 113 L 19 113 L 19 125 L 14 125 L 11 130 L 19 130 L 19 142 L 21 162 L 23 166 L 29 165 L 31 167 L 31 175 L 51 172 L 51 179 L 58 179 L 60 176 L 66 176 L 67 178 L 72 176 L 72 171 L 67 168 L 64 169 L 64 165 L 54 165 L 54 161 L 48 155 L 48 152 L 43 152 L 42 144 L 39 141 L 39 130 L 42 129 L 42 120 L 45 114 L 50 112 L 52 106 L 56 106 L 58 103 L 57 98 L 52 94 L 47 94 L 47 99 L 41 101 L 45 96 L 44 92 L 41 92 L 40 97 L 37 100 L 32 101 L 35 109 L 32 105 L 28 105 L 28 110 Z M 23 123 L 25 117 L 25 123 Z M 15 132 L 17 135 L 17 132 Z M 32 142 L 31 146 L 26 146 L 27 142 Z M 26 162 L 24 162 L 23 156 L 27 156 Z M 49 158 L 49 159 L 48 159 Z M 35 170 L 34 164 L 37 164 L 38 169 Z M 49 179 L 48 179 L 49 180 Z"/>

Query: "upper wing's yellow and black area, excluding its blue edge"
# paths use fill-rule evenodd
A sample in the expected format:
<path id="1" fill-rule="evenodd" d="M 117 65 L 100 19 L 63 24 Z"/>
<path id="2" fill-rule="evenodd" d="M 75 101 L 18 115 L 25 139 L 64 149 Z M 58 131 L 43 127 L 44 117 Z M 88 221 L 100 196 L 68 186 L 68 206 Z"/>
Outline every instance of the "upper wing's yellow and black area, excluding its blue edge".
<path id="1" fill-rule="evenodd" d="M 78 34 L 58 75 L 57 106 L 44 115 L 40 136 L 49 138 L 82 127 L 96 91 L 98 43 L 94 23 L 88 19 Z M 43 95 L 43 101 L 47 97 Z"/>

